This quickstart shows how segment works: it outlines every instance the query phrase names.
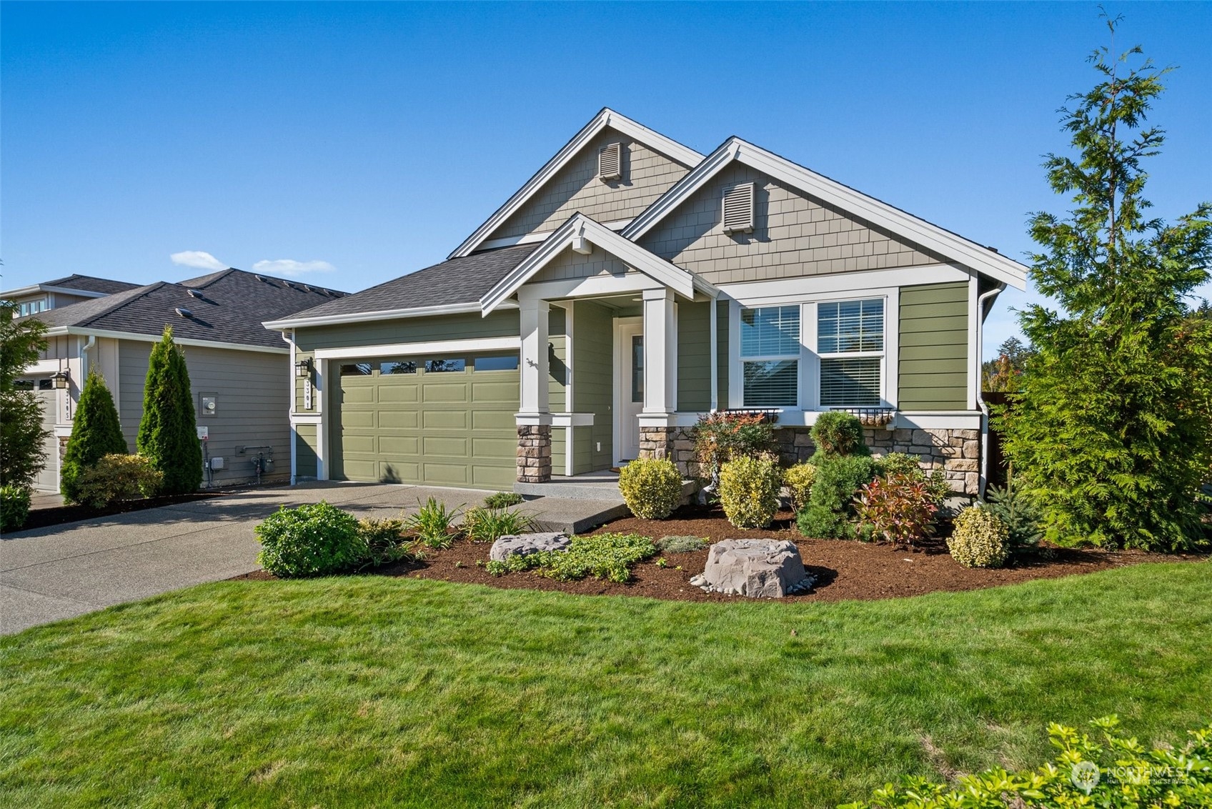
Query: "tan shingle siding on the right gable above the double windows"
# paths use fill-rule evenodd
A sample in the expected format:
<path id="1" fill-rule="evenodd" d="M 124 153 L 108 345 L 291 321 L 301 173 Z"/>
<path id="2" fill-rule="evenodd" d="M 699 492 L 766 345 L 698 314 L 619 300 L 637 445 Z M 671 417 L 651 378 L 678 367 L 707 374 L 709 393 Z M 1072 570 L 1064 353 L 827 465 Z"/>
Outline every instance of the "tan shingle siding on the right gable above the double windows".
<path id="1" fill-rule="evenodd" d="M 758 183 L 756 227 L 751 234 L 726 235 L 720 226 L 722 194 L 741 182 Z M 713 284 L 943 261 L 738 163 L 720 171 L 640 244 Z"/>

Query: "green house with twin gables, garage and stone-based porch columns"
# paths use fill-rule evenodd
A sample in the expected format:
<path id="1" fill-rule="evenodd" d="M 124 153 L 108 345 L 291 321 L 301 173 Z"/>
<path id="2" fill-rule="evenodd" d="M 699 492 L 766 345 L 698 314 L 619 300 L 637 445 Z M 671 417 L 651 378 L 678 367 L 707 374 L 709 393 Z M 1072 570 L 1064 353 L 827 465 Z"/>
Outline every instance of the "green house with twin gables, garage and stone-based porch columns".
<path id="1" fill-rule="evenodd" d="M 291 318 L 297 478 L 536 491 L 671 457 L 711 410 L 830 409 L 977 494 L 981 324 L 1027 268 L 739 138 L 610 109 L 448 261 Z"/>

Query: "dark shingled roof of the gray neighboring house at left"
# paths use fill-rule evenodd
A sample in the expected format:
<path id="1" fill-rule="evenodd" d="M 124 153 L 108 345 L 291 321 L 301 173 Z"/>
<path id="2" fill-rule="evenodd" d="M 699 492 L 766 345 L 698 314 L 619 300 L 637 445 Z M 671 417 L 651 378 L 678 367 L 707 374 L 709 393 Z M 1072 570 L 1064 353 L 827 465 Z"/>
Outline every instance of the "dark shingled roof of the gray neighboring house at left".
<path id="1" fill-rule="evenodd" d="M 170 325 L 175 337 L 188 341 L 278 349 L 285 348 L 281 335 L 262 326 L 263 318 L 292 314 L 343 295 L 225 269 L 179 284 L 156 281 L 30 317 L 50 326 L 52 335 L 110 332 L 159 337 L 165 325 Z M 190 317 L 177 314 L 177 308 L 190 312 Z"/>

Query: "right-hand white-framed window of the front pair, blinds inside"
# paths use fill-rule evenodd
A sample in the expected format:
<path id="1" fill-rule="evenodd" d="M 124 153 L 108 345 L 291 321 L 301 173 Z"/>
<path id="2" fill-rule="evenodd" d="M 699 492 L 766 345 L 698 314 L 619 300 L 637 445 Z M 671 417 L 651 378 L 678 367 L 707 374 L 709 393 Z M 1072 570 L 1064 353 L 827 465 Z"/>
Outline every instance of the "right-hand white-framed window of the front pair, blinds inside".
<path id="1" fill-rule="evenodd" d="M 884 298 L 817 304 L 821 406 L 879 406 L 884 400 Z"/>

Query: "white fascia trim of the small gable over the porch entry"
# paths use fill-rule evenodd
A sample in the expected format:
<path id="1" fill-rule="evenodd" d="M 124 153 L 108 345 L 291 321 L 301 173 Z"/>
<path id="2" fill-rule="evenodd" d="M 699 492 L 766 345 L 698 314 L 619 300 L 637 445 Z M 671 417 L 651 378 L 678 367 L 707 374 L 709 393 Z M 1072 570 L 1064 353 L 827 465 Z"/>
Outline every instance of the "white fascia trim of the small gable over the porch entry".
<path id="1" fill-rule="evenodd" d="M 522 263 L 518 264 L 501 281 L 480 298 L 480 306 L 485 315 L 501 306 L 505 300 L 516 292 L 522 284 L 534 277 L 543 267 L 550 263 L 556 256 L 572 244 L 574 238 L 585 238 L 591 245 L 599 247 L 622 261 L 628 267 L 640 270 L 648 278 L 659 281 L 663 286 L 671 289 L 684 297 L 694 297 L 694 291 L 702 291 L 710 297 L 719 294 L 714 286 L 693 273 L 688 273 L 681 267 L 673 264 L 661 256 L 653 255 L 614 233 L 610 228 L 583 213 L 573 213 L 553 233 L 538 250 L 526 256 Z"/>

